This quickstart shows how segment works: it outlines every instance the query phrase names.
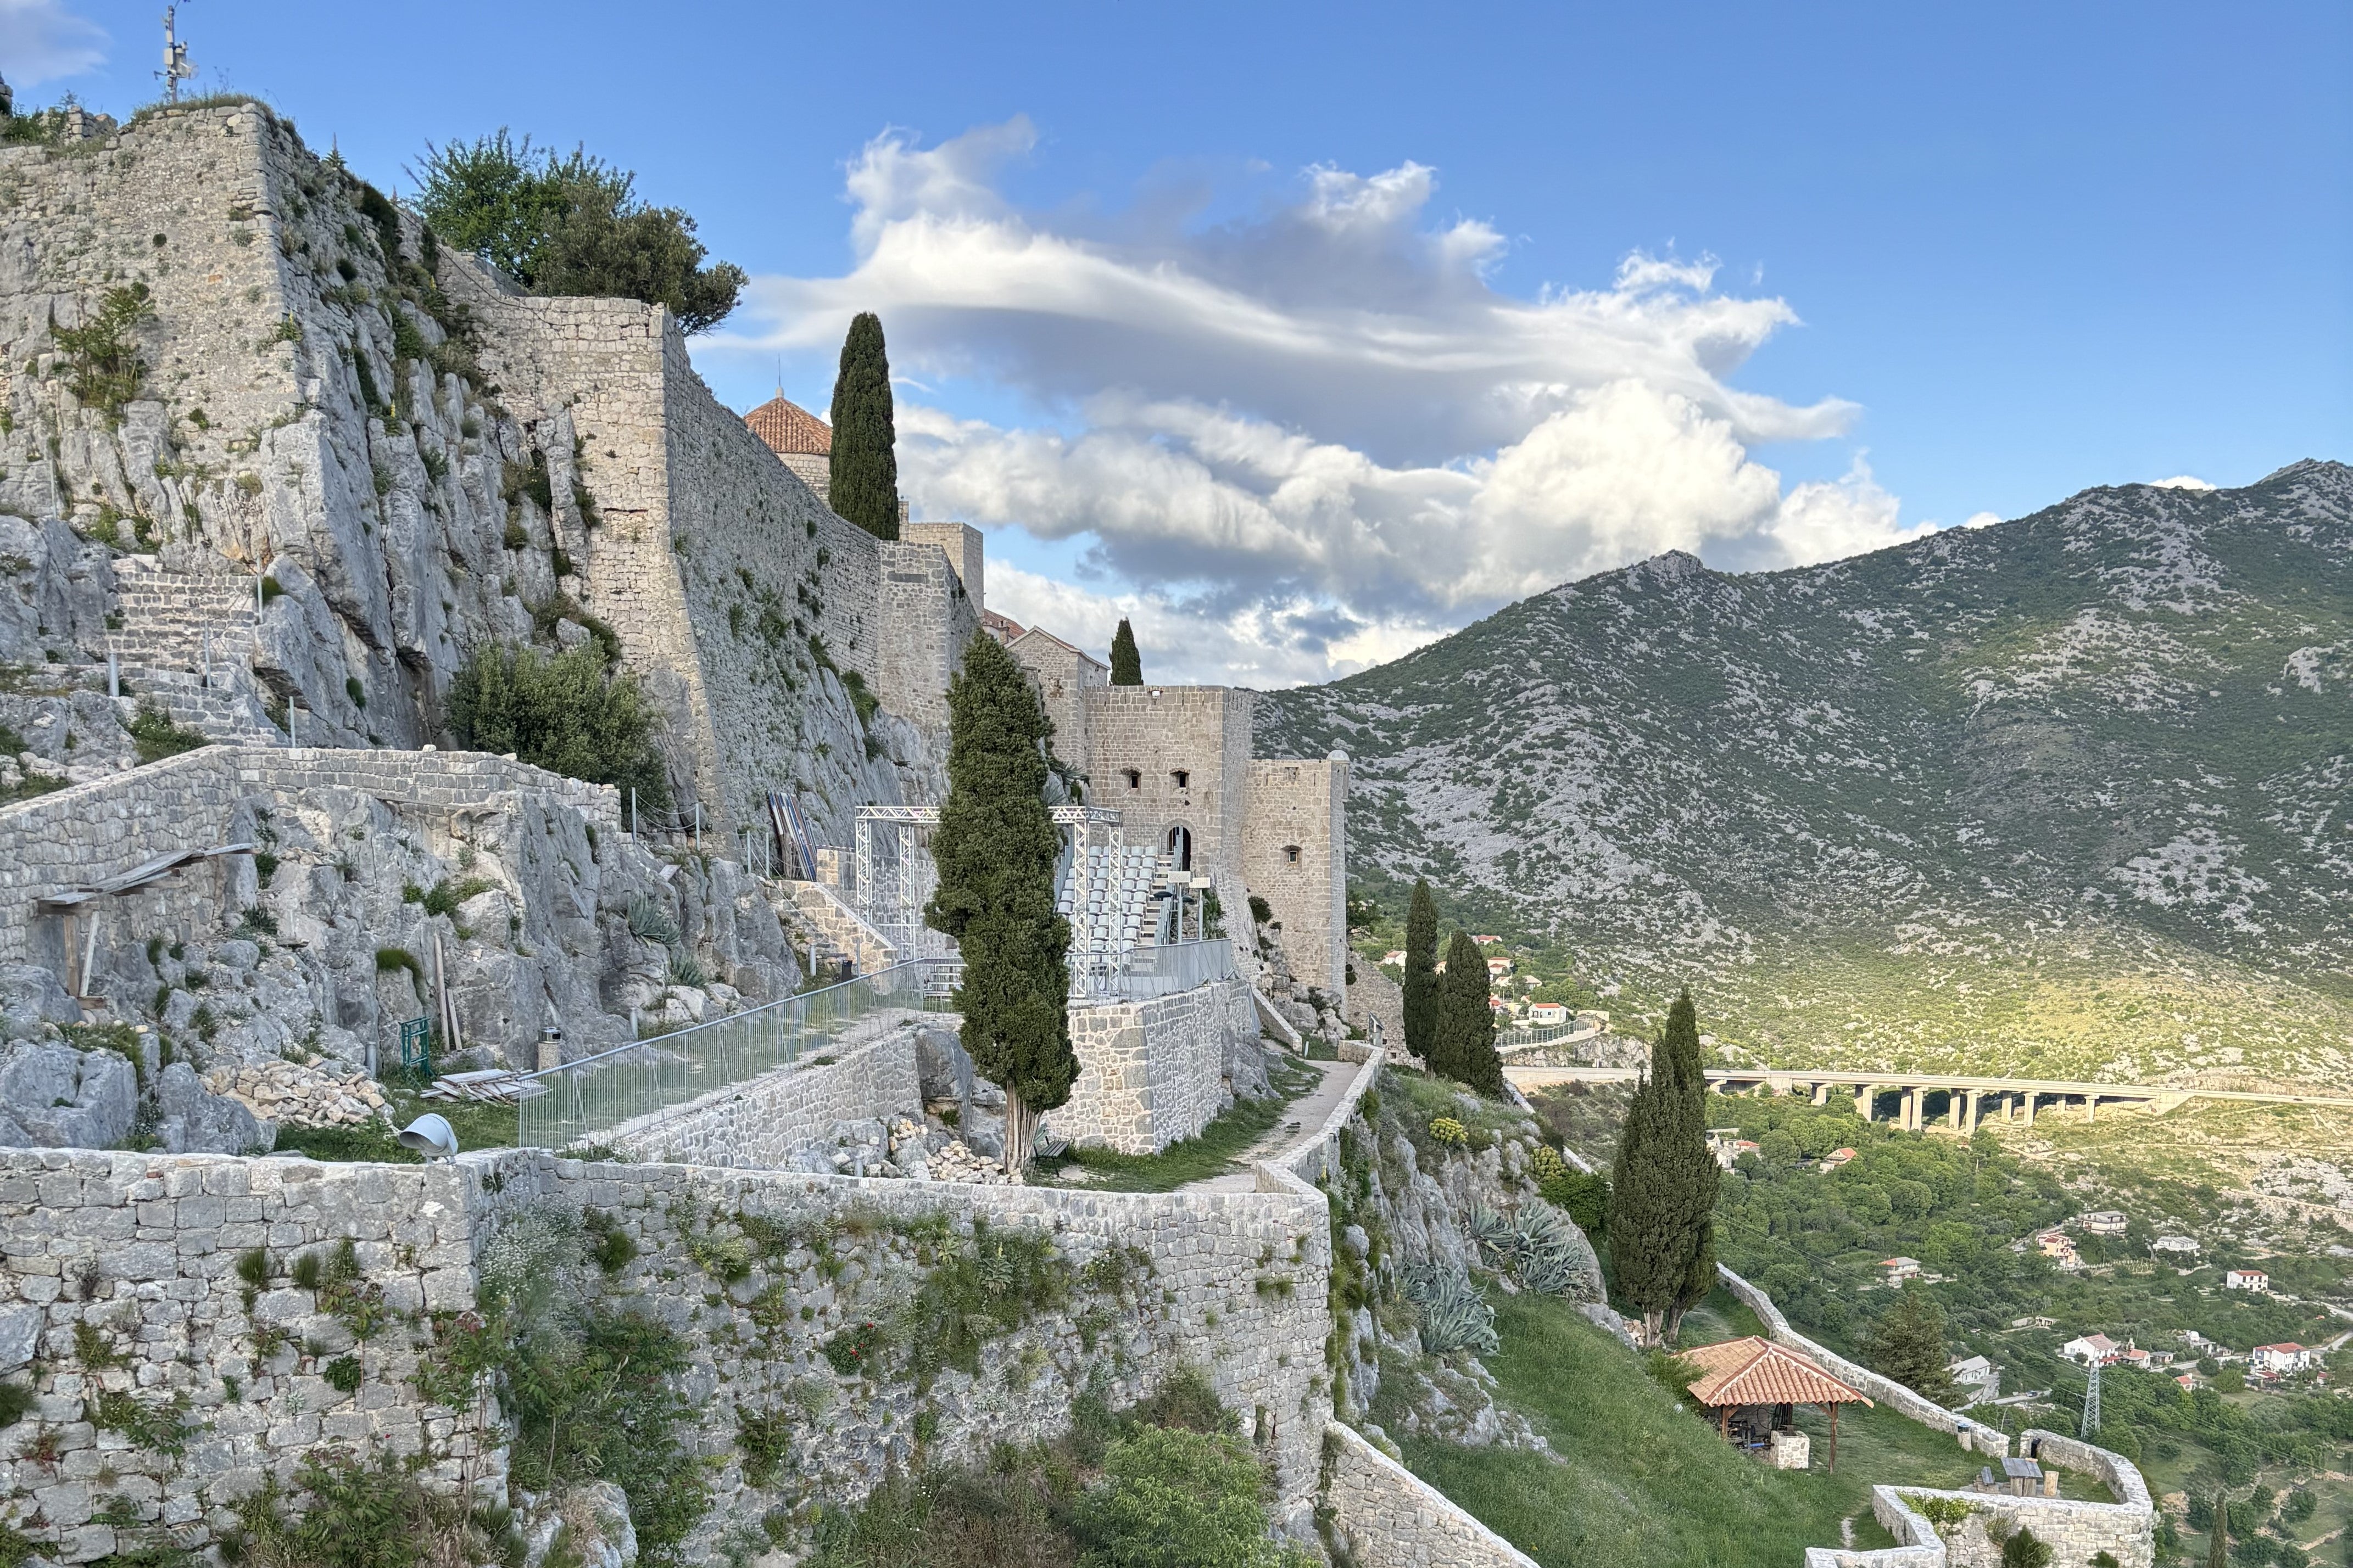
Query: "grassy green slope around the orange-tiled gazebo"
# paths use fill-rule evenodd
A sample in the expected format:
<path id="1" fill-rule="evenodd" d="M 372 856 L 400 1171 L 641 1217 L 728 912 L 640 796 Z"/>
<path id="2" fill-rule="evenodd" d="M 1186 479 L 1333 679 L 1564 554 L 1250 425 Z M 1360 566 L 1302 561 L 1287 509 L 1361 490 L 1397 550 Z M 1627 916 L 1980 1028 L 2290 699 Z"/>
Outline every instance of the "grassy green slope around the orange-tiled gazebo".
<path id="1" fill-rule="evenodd" d="M 1567 1305 L 1499 1295 L 1504 1349 L 1487 1356 L 1501 1401 L 1534 1422 L 1558 1460 L 1405 1439 L 1405 1462 L 1546 1568 L 1786 1568 L 1805 1547 L 1892 1544 L 1871 1486 L 1962 1486 L 1981 1460 L 1889 1410 L 1838 1420 L 1838 1474 L 1824 1474 L 1828 1422 L 1800 1413 L 1814 1469 L 1774 1472 L 1718 1441 L 1642 1361 Z M 1689 1342 L 1746 1333 L 1722 1295 Z"/>

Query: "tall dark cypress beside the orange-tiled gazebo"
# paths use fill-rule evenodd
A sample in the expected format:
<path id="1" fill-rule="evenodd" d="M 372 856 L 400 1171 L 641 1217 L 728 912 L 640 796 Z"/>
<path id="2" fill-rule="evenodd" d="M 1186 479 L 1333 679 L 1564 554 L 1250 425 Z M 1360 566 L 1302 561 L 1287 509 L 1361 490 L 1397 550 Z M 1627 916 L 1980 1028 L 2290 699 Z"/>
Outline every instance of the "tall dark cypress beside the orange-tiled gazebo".
<path id="1" fill-rule="evenodd" d="M 1454 969 L 1452 957 L 1447 969 Z M 1619 1295 L 1642 1314 L 1652 1342 L 1673 1340 L 1682 1314 L 1715 1284 L 1715 1185 L 1706 1133 L 1699 1013 L 1685 992 L 1649 1051 L 1649 1074 L 1626 1107 L 1609 1175 L 1609 1260 Z"/>

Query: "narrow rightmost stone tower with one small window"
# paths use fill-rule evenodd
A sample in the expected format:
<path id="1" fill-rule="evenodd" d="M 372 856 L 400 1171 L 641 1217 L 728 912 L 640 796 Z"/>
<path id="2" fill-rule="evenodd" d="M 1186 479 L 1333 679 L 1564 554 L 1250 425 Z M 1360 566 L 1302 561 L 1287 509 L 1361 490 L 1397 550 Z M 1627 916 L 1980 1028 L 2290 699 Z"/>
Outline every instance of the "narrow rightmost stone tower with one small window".
<path id="1" fill-rule="evenodd" d="M 1292 973 L 1346 1016 L 1348 759 L 1252 762 L 1242 877 L 1282 926 Z"/>

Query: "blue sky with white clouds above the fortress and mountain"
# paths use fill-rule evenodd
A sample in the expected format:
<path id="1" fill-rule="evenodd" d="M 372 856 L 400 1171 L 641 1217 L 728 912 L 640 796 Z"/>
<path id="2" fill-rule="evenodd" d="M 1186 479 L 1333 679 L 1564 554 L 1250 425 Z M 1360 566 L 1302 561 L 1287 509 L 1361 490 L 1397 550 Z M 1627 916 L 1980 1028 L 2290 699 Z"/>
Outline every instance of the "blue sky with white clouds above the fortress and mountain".
<path id="1" fill-rule="evenodd" d="M 0 0 L 0 71 L 122 113 L 155 9 Z M 734 407 L 781 360 L 824 411 L 880 308 L 918 512 L 1172 675 L 1318 679 L 1657 548 L 2353 456 L 2344 5 L 181 24 L 198 87 L 379 183 L 499 125 L 633 167 L 758 280 L 696 346 Z"/>

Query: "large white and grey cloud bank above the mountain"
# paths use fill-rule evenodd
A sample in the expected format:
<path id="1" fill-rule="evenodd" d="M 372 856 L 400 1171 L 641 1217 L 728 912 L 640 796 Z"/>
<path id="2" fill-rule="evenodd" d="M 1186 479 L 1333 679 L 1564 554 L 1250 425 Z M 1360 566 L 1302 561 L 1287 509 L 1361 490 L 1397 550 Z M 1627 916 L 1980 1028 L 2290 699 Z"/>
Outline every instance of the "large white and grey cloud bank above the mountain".
<path id="1" fill-rule="evenodd" d="M 831 355 L 878 310 L 894 371 L 1042 409 L 899 409 L 920 515 L 1080 538 L 1089 569 L 1144 585 L 993 569 L 1016 618 L 1101 646 L 1127 607 L 1188 675 L 1285 684 L 1659 550 L 1784 567 L 1932 527 L 1901 527 L 1859 456 L 1786 494 L 1751 456 L 1835 437 L 1854 407 L 1727 383 L 1798 317 L 1715 292 L 1713 259 L 1631 254 L 1609 287 L 1520 299 L 1494 287 L 1489 223 L 1431 221 L 1424 165 L 1313 167 L 1224 223 L 1167 200 L 1040 216 L 1000 190 L 1033 146 L 1026 120 L 875 139 L 847 176 L 854 266 L 755 280 L 758 331 L 704 348 Z"/>

